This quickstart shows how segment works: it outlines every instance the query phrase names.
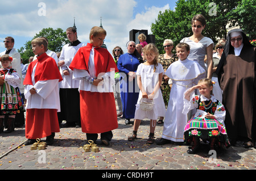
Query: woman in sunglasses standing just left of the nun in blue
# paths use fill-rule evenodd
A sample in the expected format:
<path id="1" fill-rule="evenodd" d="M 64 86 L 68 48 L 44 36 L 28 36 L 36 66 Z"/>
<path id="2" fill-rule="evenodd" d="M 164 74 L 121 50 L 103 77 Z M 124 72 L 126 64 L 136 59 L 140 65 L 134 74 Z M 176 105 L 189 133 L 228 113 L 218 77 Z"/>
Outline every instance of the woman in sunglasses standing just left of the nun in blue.
<path id="1" fill-rule="evenodd" d="M 118 58 L 123 54 L 123 50 L 121 47 L 115 47 L 112 51 L 112 54 L 114 56 L 115 64 L 117 64 Z M 117 113 L 117 117 L 123 115 L 123 107 L 122 107 L 122 101 L 120 97 L 120 75 L 118 72 L 115 73 L 115 86 L 114 86 L 114 92 L 115 92 L 115 99 L 117 100 L 117 106 L 119 113 Z"/>

